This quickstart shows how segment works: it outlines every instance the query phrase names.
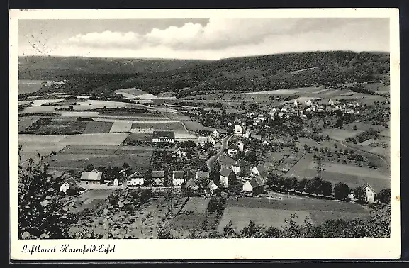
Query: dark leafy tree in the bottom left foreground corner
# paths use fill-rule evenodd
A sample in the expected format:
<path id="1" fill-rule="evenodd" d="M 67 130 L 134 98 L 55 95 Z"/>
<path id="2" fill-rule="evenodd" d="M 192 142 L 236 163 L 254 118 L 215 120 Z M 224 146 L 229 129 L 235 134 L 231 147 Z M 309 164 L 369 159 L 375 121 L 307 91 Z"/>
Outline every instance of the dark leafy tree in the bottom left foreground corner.
<path id="1" fill-rule="evenodd" d="M 20 157 L 19 148 L 19 157 Z M 60 201 L 60 177 L 48 174 L 47 156 L 18 164 L 18 237 L 20 239 L 70 238 L 69 225 L 77 216 Z"/>

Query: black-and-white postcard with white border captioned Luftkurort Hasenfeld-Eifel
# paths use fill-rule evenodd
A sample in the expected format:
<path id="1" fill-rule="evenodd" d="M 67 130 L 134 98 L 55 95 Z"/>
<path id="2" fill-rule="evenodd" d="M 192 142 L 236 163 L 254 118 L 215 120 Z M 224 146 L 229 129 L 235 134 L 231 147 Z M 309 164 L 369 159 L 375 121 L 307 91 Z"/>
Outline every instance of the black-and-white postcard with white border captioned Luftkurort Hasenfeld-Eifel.
<path id="1" fill-rule="evenodd" d="M 16 256 L 399 257 L 398 11 L 267 11 L 16 11 Z"/>

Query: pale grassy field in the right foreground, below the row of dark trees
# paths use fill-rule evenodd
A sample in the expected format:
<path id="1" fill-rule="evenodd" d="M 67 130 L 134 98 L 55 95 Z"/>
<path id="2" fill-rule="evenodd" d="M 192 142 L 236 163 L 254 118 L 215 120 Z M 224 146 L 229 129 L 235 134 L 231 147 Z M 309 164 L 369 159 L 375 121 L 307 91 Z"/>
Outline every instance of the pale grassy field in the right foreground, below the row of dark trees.
<path id="1" fill-rule="evenodd" d="M 313 224 L 323 223 L 330 218 L 359 218 L 369 215 L 366 208 L 358 204 L 340 201 L 299 197 L 284 197 L 282 200 L 240 198 L 228 201 L 218 230 L 223 230 L 230 220 L 238 230 L 248 225 L 249 220 L 266 227 L 282 228 L 286 225 L 284 220 L 288 220 L 293 214 L 296 215 L 293 218 L 296 223 L 309 219 Z"/>

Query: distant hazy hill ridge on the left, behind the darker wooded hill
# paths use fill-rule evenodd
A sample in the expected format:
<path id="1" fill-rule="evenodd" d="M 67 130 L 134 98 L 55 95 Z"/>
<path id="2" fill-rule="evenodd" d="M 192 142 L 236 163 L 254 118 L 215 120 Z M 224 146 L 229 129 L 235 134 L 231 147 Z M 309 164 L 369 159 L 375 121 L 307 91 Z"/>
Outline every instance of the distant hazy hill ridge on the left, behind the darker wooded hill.
<path id="1" fill-rule="evenodd" d="M 206 60 L 96 57 L 18 57 L 18 79 L 57 79 L 78 74 L 140 74 L 193 67 Z"/>

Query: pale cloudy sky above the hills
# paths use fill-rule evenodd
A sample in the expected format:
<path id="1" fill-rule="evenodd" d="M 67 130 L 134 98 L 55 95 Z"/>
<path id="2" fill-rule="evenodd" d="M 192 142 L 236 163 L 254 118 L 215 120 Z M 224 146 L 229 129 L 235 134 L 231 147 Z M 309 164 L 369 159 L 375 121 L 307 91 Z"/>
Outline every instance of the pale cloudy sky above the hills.
<path id="1" fill-rule="evenodd" d="M 389 52 L 388 18 L 19 20 L 18 55 L 218 60 L 284 52 Z"/>

